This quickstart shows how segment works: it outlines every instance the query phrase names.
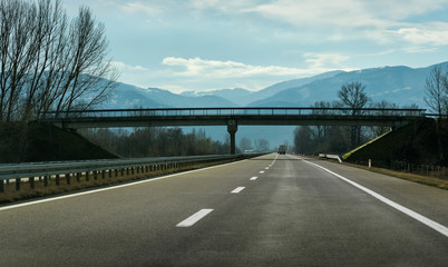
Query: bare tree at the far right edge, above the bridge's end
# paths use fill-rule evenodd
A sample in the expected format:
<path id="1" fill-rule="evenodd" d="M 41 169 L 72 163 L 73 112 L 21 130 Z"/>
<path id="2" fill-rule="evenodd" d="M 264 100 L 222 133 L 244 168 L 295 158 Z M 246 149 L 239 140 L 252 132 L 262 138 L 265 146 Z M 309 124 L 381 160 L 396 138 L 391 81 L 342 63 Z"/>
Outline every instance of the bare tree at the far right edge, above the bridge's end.
<path id="1" fill-rule="evenodd" d="M 425 83 L 425 102 L 431 112 L 439 118 L 448 111 L 448 71 L 442 71 L 440 66 L 435 66 L 429 72 Z"/>

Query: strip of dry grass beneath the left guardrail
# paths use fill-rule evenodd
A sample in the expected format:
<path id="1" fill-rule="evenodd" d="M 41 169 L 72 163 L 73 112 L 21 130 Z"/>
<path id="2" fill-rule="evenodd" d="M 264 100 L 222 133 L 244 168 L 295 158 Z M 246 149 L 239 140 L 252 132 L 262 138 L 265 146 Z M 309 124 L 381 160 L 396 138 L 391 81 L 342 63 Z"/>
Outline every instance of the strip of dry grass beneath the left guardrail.
<path id="1" fill-rule="evenodd" d="M 181 172 L 181 171 L 187 171 L 187 170 L 193 170 L 193 169 L 201 169 L 210 166 L 215 166 L 215 165 L 221 165 L 221 164 L 226 164 L 235 160 L 223 160 L 223 161 L 213 161 L 213 162 L 202 162 L 202 164 L 195 164 L 195 165 L 189 165 L 185 167 L 178 167 L 178 168 L 171 168 L 171 169 L 164 169 L 164 170 L 154 170 L 149 172 L 143 172 L 143 174 L 134 174 L 134 175 L 126 175 L 124 176 L 118 172 L 118 177 L 115 177 L 115 172 L 113 172 L 113 177 L 109 178 L 108 174 L 106 174 L 105 178 L 101 178 L 100 175 L 98 175 L 97 179 L 94 179 L 94 177 L 90 175 L 89 181 L 86 181 L 86 177 L 81 177 L 80 181 L 78 182 L 76 180 L 76 177 L 71 177 L 71 182 L 70 185 L 67 185 L 67 180 L 65 177 L 60 178 L 60 184 L 59 186 L 56 185 L 55 179 L 49 179 L 48 180 L 48 186 L 46 187 L 42 181 L 35 181 L 35 189 L 30 188 L 29 182 L 21 182 L 21 188 L 19 191 L 16 190 L 16 182 L 12 180 L 9 185 L 4 185 L 4 192 L 0 192 L 0 202 L 13 202 L 18 200 L 25 200 L 25 199 L 32 199 L 32 198 L 39 198 L 39 197 L 46 197 L 46 196 L 52 196 L 52 195 L 60 195 L 65 192 L 70 192 L 70 191 L 77 191 L 77 190 L 84 190 L 88 188 L 97 188 L 97 187 L 104 187 L 104 186 L 110 186 L 114 184 L 120 184 L 120 182 L 129 182 L 133 180 L 140 180 L 140 179 L 150 179 L 164 175 L 169 175 L 174 172 Z"/>

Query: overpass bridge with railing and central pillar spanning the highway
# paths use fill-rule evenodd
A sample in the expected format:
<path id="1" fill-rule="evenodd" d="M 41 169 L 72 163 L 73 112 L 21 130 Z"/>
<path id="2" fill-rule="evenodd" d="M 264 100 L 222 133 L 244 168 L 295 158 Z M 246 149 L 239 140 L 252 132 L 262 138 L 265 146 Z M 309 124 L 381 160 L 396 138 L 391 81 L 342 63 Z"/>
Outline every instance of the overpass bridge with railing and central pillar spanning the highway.
<path id="1" fill-rule="evenodd" d="M 40 121 L 66 129 L 166 126 L 227 126 L 235 152 L 238 126 L 400 127 L 425 118 L 425 109 L 350 108 L 166 108 L 46 111 Z"/>

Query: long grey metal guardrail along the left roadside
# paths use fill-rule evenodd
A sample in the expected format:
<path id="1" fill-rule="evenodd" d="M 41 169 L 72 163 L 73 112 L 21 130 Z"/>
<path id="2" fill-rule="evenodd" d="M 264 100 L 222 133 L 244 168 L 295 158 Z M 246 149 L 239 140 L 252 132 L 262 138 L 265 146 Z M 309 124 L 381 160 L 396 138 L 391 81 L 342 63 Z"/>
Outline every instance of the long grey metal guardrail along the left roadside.
<path id="1" fill-rule="evenodd" d="M 147 165 L 181 164 L 202 160 L 222 160 L 241 157 L 241 155 L 213 155 L 191 157 L 162 157 L 140 159 L 106 159 L 86 161 L 55 161 L 55 162 L 31 162 L 31 164 L 7 164 L 0 165 L 0 180 L 20 179 L 38 176 L 55 176 L 76 174 L 94 170 L 109 170 L 133 168 Z"/>

